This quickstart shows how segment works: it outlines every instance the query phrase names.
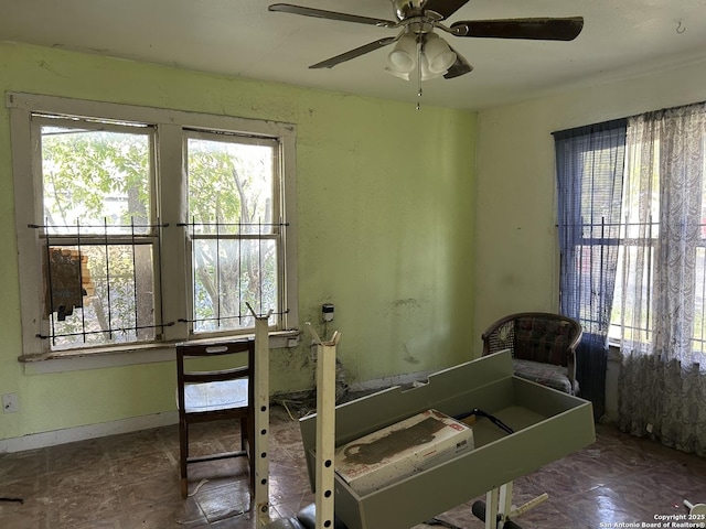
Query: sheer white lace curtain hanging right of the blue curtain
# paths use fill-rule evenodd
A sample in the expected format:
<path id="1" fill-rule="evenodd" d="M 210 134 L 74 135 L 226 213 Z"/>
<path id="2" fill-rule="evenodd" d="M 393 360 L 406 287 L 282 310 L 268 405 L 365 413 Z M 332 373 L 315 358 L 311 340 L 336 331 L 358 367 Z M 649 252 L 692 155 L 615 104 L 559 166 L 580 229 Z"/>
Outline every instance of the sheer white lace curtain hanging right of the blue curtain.
<path id="1" fill-rule="evenodd" d="M 706 106 L 630 118 L 627 141 L 620 425 L 706 455 Z"/>

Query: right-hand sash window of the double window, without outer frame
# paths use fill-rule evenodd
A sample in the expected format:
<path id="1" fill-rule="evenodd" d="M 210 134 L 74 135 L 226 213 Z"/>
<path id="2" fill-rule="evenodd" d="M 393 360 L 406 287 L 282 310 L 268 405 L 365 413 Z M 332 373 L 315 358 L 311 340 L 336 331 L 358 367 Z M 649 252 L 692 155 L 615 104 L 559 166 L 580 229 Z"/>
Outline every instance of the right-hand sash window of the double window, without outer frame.
<path id="1" fill-rule="evenodd" d="M 194 332 L 250 328 L 250 307 L 280 306 L 277 142 L 190 132 L 185 148 Z"/>

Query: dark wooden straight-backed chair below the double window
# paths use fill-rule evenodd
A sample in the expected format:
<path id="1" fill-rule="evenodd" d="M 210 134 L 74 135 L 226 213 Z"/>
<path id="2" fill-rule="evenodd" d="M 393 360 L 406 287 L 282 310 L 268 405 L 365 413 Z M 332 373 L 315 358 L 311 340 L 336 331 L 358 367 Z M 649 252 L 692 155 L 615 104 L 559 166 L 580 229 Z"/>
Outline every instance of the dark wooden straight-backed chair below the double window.
<path id="1" fill-rule="evenodd" d="M 205 360 L 205 358 L 211 358 Z M 243 365 L 243 360 L 246 361 Z M 201 367 L 199 364 L 201 363 Z M 205 364 L 217 363 L 207 369 Z M 227 365 L 227 366 L 226 366 Z M 226 366 L 226 367 L 223 367 Z M 254 378 L 255 342 L 176 344 L 176 400 L 179 406 L 179 463 L 181 496 L 189 492 L 188 467 L 191 463 L 246 456 L 249 465 L 250 492 L 255 486 Z M 196 422 L 239 420 L 240 446 L 233 452 L 189 455 L 189 427 Z"/>

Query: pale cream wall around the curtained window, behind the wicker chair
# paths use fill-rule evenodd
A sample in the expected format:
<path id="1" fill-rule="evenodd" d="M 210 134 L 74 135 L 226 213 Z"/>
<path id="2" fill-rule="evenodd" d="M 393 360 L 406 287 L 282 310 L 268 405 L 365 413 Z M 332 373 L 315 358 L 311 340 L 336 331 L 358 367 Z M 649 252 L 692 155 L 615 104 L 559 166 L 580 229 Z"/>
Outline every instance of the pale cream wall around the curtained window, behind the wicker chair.
<path id="1" fill-rule="evenodd" d="M 506 314 L 559 309 L 552 132 L 706 99 L 704 60 L 607 77 L 605 83 L 479 112 L 477 336 Z"/>

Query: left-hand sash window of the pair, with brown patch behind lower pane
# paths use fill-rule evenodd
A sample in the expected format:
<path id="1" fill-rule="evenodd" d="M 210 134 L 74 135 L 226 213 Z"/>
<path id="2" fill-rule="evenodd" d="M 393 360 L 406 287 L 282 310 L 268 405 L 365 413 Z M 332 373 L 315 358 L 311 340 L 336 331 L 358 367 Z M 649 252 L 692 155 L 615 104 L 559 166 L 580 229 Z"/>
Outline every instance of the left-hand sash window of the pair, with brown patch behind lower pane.
<path id="1" fill-rule="evenodd" d="M 153 132 L 32 117 L 43 214 L 24 229 L 43 246 L 42 337 L 53 350 L 156 339 Z"/>

